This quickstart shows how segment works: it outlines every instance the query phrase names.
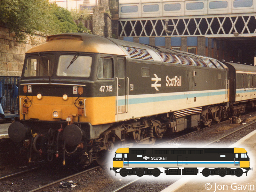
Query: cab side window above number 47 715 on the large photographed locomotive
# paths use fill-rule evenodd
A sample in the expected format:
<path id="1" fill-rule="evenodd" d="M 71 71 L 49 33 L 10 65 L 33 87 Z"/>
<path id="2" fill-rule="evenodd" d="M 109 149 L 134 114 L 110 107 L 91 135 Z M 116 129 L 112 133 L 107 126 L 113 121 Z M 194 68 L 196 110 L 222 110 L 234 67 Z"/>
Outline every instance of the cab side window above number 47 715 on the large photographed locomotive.
<path id="1" fill-rule="evenodd" d="M 100 58 L 97 70 L 98 79 L 112 79 L 114 77 L 114 63 L 112 58 Z"/>

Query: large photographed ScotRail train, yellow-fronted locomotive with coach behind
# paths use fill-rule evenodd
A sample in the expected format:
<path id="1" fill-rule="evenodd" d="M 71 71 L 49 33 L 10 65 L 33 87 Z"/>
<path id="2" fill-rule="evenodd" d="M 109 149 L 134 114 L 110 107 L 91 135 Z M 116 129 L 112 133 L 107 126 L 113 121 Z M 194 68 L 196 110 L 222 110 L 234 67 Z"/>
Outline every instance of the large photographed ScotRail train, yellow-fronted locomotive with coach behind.
<path id="1" fill-rule="evenodd" d="M 29 161 L 105 162 L 255 106 L 256 68 L 86 33 L 48 36 L 26 53 L 20 122 L 8 129 Z M 60 157 L 61 156 L 61 157 Z"/>

